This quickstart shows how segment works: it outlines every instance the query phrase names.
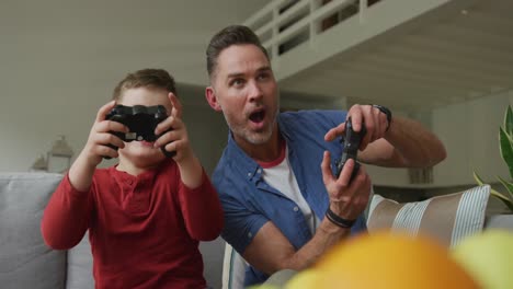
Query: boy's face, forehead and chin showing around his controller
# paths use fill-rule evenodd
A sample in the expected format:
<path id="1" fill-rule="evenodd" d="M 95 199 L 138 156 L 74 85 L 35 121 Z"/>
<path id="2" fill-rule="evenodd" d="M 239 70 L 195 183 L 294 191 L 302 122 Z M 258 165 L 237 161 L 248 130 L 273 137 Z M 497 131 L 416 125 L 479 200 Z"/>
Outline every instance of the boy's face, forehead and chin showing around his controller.
<path id="1" fill-rule="evenodd" d="M 125 106 L 145 105 L 155 106 L 163 105 L 168 115 L 171 113 L 171 101 L 168 92 L 162 89 L 137 88 L 126 90 L 117 104 Z M 153 142 L 148 141 L 130 141 L 125 142 L 125 148 L 119 149 L 119 161 L 129 161 L 136 165 L 151 165 L 162 161 L 164 155 L 160 148 L 153 148 Z"/>

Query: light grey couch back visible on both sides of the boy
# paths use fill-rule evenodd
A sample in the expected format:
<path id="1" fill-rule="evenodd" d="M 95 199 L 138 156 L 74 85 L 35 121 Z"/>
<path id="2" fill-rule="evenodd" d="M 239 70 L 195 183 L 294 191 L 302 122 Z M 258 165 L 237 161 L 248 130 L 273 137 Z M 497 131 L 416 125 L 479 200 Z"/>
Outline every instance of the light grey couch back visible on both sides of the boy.
<path id="1" fill-rule="evenodd" d="M 50 250 L 41 235 L 44 208 L 61 178 L 52 173 L 0 173 L 0 288 L 94 288 L 88 234 L 69 251 Z M 208 286 L 220 288 L 224 242 L 219 238 L 200 248 Z"/>

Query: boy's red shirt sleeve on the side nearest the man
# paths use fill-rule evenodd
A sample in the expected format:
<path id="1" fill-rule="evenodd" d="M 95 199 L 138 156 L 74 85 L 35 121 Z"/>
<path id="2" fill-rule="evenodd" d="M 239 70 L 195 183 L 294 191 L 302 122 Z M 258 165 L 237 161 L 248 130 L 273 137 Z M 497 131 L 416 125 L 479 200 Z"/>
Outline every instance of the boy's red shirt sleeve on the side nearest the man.
<path id="1" fill-rule="evenodd" d="M 198 241 L 212 241 L 223 229 L 223 209 L 219 196 L 205 171 L 197 188 L 187 188 L 179 181 L 180 209 L 189 234 Z M 178 176 L 179 180 L 180 175 Z"/>

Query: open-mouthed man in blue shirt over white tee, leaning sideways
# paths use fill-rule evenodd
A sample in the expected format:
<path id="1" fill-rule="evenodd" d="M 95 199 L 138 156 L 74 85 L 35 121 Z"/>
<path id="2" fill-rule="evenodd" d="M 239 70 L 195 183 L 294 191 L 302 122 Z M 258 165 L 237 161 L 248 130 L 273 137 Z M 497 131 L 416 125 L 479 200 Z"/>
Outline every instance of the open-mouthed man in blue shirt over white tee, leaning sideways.
<path id="1" fill-rule="evenodd" d="M 251 265 L 246 286 L 282 269 L 304 269 L 351 232 L 366 229 L 362 212 L 371 180 L 364 166 L 351 183 L 354 161 L 339 177 L 331 169 L 342 152 L 333 140 L 343 135 L 346 118 L 355 131 L 363 124 L 367 130 L 361 162 L 420 167 L 445 159 L 433 134 L 413 120 L 392 118 L 383 106 L 280 114 L 269 56 L 246 26 L 217 33 L 206 54 L 206 99 L 230 128 L 213 176 L 225 210 L 221 235 Z"/>

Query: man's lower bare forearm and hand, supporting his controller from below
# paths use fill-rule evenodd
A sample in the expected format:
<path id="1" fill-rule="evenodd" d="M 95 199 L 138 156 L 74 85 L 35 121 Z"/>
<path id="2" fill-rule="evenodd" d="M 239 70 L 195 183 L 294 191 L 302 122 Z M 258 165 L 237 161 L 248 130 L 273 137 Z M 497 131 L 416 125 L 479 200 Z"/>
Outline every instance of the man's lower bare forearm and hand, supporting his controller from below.
<path id="1" fill-rule="evenodd" d="M 363 165 L 349 184 L 354 161 L 349 160 L 338 178 L 330 169 L 330 154 L 324 152 L 322 180 L 329 193 L 331 210 L 346 220 L 356 219 L 369 198 L 371 180 Z M 315 264 L 331 246 L 347 238 L 350 228 L 342 229 L 324 218 L 314 238 L 300 248 L 295 248 L 288 239 L 272 222 L 267 221 L 258 231 L 242 256 L 252 266 L 269 275 L 281 269 L 303 270 Z"/>

